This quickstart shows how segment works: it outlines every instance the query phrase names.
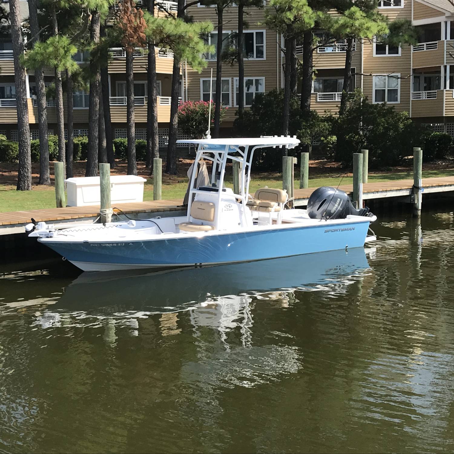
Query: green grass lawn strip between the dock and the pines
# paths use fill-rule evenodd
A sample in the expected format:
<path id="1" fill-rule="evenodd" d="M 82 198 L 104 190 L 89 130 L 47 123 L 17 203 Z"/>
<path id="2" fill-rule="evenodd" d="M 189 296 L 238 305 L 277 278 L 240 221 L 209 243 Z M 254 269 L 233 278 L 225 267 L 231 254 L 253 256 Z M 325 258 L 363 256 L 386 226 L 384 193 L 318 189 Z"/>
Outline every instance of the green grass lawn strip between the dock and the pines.
<path id="1" fill-rule="evenodd" d="M 423 178 L 430 177 L 448 177 L 453 176 L 454 170 L 424 170 Z M 309 187 L 318 188 L 319 186 L 337 186 L 341 181 L 341 176 L 324 176 L 309 179 Z M 378 183 L 380 181 L 403 180 L 405 178 L 413 178 L 413 172 L 390 172 L 390 173 L 372 173 L 369 174 L 369 182 Z M 341 184 L 352 183 L 352 177 L 345 177 Z M 227 179 L 227 186 L 232 187 L 232 179 Z M 299 179 L 295 180 L 295 188 L 299 188 Z M 188 183 L 180 182 L 173 184 L 164 184 L 162 189 L 163 199 L 183 198 L 186 192 Z M 249 192 L 252 194 L 264 186 L 270 188 L 281 188 L 282 180 L 279 178 L 260 178 L 260 175 L 252 176 Z M 143 200 L 153 200 L 153 180 L 149 178 L 145 183 L 143 191 Z M 54 187 L 39 186 L 33 191 L 16 191 L 14 186 L 0 186 L 0 212 L 8 211 L 26 211 L 40 208 L 54 208 L 55 193 Z"/>

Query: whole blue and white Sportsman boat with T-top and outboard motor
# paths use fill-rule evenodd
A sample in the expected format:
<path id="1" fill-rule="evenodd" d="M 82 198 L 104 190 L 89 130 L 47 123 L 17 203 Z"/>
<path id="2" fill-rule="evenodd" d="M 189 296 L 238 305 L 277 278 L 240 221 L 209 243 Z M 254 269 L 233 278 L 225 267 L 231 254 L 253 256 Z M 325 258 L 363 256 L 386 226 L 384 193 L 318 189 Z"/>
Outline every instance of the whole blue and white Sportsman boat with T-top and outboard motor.
<path id="1" fill-rule="evenodd" d="M 376 217 L 355 210 L 345 192 L 317 189 L 308 209 L 286 209 L 286 191 L 262 188 L 249 195 L 258 148 L 295 148 L 290 137 L 184 141 L 197 144 L 195 162 L 211 162 L 207 185 L 189 183 L 187 215 L 55 229 L 38 222 L 30 236 L 84 271 L 175 268 L 252 262 L 363 247 Z M 227 163 L 238 162 L 239 193 L 224 185 Z"/>

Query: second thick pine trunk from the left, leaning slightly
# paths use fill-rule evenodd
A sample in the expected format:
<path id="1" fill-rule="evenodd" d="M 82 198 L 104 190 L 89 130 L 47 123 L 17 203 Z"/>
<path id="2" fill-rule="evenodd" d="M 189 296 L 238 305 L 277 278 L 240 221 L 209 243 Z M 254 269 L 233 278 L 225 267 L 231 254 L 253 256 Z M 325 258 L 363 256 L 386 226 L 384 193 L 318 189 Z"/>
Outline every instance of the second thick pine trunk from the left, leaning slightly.
<path id="1" fill-rule="evenodd" d="M 29 0 L 29 21 L 30 31 L 32 36 L 36 36 L 36 41 L 39 38 L 39 25 L 38 25 L 38 7 L 36 0 Z M 49 172 L 49 139 L 47 137 L 47 101 L 46 101 L 46 87 L 44 85 L 44 72 L 40 67 L 35 69 L 36 81 L 36 97 L 38 101 L 38 132 L 39 132 L 39 183 L 50 184 Z"/>

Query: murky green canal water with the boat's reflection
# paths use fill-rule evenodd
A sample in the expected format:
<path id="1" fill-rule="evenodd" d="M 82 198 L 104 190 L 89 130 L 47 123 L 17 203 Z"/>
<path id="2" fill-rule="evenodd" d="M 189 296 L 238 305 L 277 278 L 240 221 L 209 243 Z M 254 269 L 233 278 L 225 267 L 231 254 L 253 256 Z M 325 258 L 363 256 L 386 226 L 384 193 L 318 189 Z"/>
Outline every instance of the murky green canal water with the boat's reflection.
<path id="1" fill-rule="evenodd" d="M 453 227 L 158 274 L 3 263 L 0 452 L 453 452 Z"/>

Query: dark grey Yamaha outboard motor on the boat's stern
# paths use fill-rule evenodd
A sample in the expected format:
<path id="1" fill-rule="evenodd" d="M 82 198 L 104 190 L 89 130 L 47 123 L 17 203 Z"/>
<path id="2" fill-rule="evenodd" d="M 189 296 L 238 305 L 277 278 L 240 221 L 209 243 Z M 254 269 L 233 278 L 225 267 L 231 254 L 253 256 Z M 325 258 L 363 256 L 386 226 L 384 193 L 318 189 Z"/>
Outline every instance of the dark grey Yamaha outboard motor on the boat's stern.
<path id="1" fill-rule="evenodd" d="M 349 214 L 372 217 L 369 208 L 357 210 L 350 197 L 340 189 L 322 186 L 312 192 L 307 201 L 307 214 L 311 219 L 345 219 Z"/>

